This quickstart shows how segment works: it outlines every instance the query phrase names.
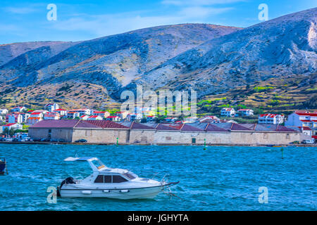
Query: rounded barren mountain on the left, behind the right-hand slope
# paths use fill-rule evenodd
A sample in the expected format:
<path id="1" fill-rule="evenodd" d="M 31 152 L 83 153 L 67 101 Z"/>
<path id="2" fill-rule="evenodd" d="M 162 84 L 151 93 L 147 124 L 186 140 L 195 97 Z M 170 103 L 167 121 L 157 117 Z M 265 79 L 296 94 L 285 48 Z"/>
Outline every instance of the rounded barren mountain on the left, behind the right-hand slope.
<path id="1" fill-rule="evenodd" d="M 71 94 L 79 90 L 77 84 L 89 84 L 89 89 L 94 86 L 91 84 L 96 84 L 98 93 L 83 88 L 75 98 L 65 91 L 58 98 L 75 101 L 84 95 L 113 97 L 133 79 L 166 60 L 237 30 L 241 28 L 206 24 L 170 25 L 82 41 L 63 51 L 56 51 L 60 49 L 52 45 L 40 46 L 0 66 L 0 82 L 6 89 L 2 94 L 20 98 L 12 87 L 27 89 L 25 101 L 42 101 L 42 97 L 55 98 L 58 86 L 61 89 L 69 87 Z M 45 94 L 42 94 L 43 91 Z"/>

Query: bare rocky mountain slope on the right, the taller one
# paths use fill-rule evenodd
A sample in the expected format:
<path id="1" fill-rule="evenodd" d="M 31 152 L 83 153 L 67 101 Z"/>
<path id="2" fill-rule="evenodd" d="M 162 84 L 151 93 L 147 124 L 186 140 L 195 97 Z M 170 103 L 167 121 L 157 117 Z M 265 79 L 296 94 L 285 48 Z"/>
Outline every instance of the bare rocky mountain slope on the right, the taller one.
<path id="1" fill-rule="evenodd" d="M 317 69 L 316 23 L 317 8 L 313 8 L 253 25 L 206 41 L 135 83 L 155 89 L 191 87 L 203 97 L 273 77 L 307 75 L 307 80 Z"/>

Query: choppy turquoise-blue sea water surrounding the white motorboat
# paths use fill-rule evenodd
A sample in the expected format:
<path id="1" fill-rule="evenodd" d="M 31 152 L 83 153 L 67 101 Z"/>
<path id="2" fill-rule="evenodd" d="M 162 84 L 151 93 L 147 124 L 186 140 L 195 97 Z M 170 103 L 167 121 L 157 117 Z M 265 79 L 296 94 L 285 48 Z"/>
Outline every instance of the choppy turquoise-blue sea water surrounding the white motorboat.
<path id="1" fill-rule="evenodd" d="M 94 156 L 108 167 L 131 169 L 142 177 L 180 181 L 153 200 L 58 198 L 46 203 L 49 186 L 68 176 L 91 174 Z M 8 162 L 0 176 L 0 210 L 317 210 L 317 149 L 209 146 L 77 146 L 0 144 Z M 259 203 L 259 187 L 268 203 Z"/>

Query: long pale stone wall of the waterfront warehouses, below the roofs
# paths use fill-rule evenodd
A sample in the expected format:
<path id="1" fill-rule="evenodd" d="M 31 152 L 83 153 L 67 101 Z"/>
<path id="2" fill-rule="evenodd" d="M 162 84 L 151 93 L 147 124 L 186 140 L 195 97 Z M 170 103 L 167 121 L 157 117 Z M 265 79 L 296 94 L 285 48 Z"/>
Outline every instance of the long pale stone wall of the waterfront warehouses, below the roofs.
<path id="1" fill-rule="evenodd" d="M 160 131 L 149 129 L 29 129 L 32 139 L 64 139 L 75 142 L 86 139 L 88 143 L 149 143 L 149 144 L 289 144 L 300 141 L 297 132 L 280 131 Z"/>

